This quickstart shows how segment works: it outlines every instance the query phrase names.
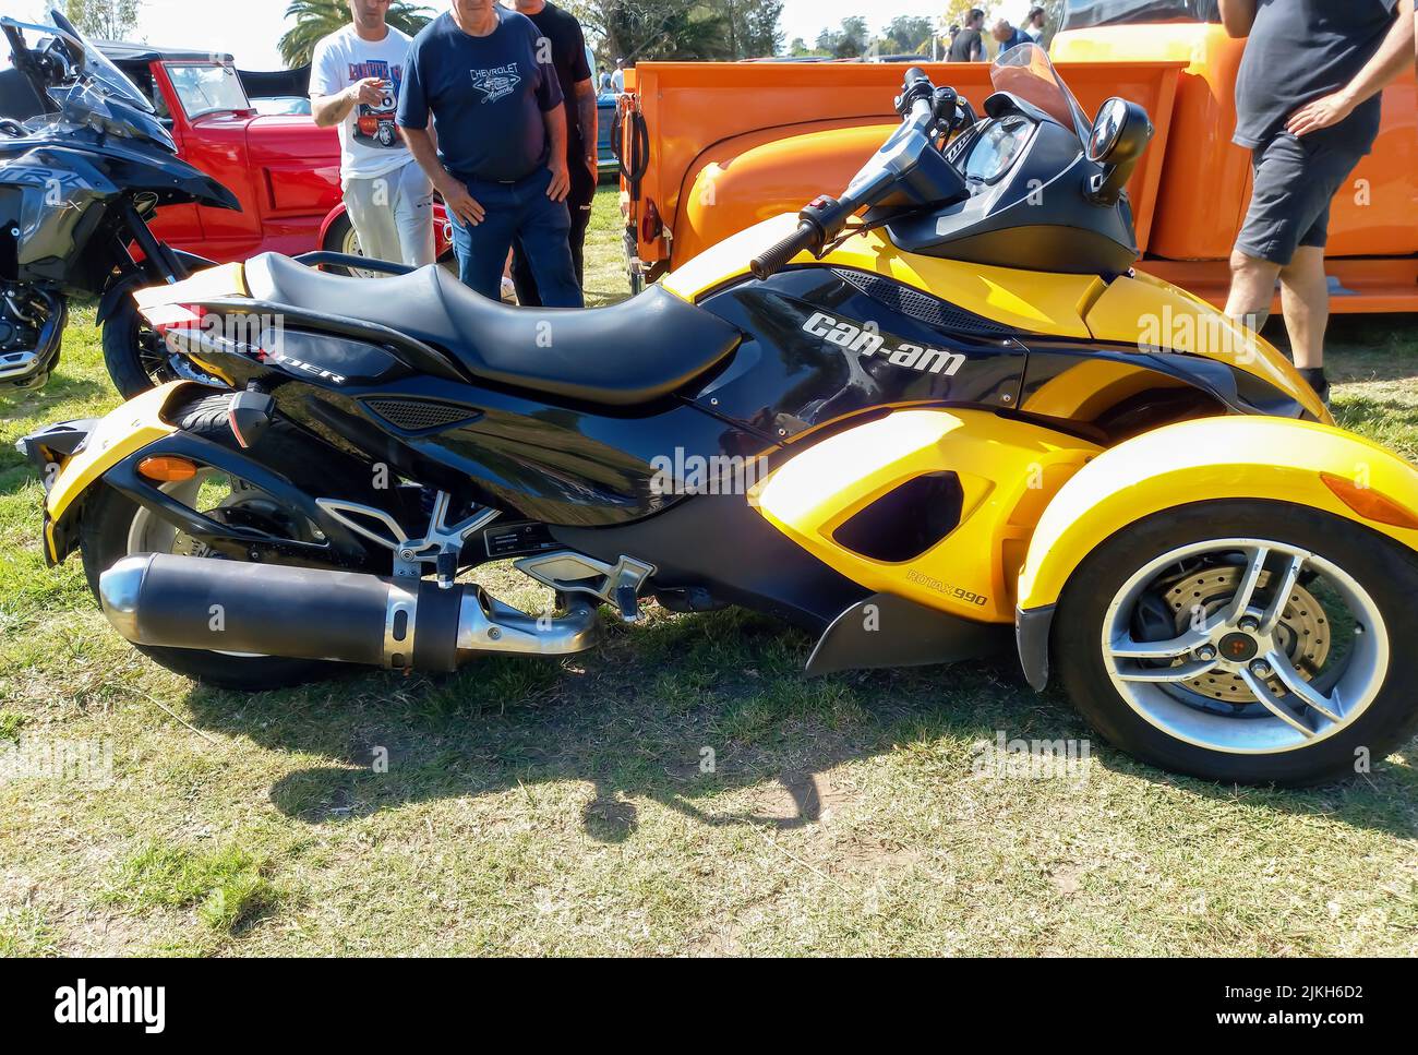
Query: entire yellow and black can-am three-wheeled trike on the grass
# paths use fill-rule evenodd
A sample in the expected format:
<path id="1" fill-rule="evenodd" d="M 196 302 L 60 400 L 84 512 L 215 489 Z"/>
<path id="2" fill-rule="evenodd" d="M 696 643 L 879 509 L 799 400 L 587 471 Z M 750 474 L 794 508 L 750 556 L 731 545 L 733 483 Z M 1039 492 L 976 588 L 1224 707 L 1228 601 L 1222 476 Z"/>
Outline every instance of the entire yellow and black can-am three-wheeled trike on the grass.
<path id="1" fill-rule="evenodd" d="M 1211 778 L 1383 757 L 1418 719 L 1418 471 L 1133 272 L 1140 106 L 1089 122 L 1035 47 L 993 81 L 976 121 L 912 69 L 839 199 L 611 308 L 274 254 L 140 292 L 227 390 L 28 437 L 48 559 L 78 547 L 163 666 L 245 689 L 563 655 L 654 597 L 805 627 L 813 674 L 1017 648 Z M 554 614 L 459 581 L 506 559 Z"/>

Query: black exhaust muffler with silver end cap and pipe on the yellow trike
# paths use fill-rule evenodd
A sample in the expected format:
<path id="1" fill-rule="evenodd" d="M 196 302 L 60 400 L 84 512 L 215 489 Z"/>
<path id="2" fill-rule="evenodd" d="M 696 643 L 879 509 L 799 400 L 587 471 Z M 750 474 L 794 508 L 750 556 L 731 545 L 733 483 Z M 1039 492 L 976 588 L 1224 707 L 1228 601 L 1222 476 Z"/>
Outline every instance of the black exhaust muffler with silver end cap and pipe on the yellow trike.
<path id="1" fill-rule="evenodd" d="M 482 652 L 566 655 L 594 644 L 591 598 L 529 615 L 475 584 L 140 553 L 99 576 L 104 614 L 139 645 L 455 671 Z"/>

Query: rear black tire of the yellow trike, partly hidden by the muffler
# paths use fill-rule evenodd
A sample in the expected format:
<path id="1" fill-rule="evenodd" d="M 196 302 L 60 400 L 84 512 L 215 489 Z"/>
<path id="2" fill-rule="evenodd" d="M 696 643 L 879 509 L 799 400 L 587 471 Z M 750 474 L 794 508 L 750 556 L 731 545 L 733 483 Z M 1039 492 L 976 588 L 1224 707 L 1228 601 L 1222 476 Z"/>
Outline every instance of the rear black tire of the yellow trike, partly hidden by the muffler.
<path id="1" fill-rule="evenodd" d="M 227 403 L 231 393 L 206 394 L 177 407 L 172 421 L 183 431 L 234 447 L 235 440 L 227 425 Z M 333 458 L 312 458 L 311 440 L 289 423 L 277 418 L 262 434 L 255 448 L 262 461 L 279 467 L 302 486 L 319 493 L 337 493 L 354 501 L 370 501 L 370 481 L 360 475 L 354 462 Z M 138 515 L 138 505 L 106 485 L 101 485 L 84 506 L 79 526 L 79 550 L 89 590 L 98 597 L 99 576 L 118 560 L 129 556 L 128 535 Z M 369 569 L 374 571 L 376 569 Z M 163 648 L 135 645 L 138 651 L 174 674 L 196 678 L 208 685 L 245 692 L 279 689 L 336 676 L 350 669 L 345 664 L 284 657 L 238 657 L 196 648 Z"/>

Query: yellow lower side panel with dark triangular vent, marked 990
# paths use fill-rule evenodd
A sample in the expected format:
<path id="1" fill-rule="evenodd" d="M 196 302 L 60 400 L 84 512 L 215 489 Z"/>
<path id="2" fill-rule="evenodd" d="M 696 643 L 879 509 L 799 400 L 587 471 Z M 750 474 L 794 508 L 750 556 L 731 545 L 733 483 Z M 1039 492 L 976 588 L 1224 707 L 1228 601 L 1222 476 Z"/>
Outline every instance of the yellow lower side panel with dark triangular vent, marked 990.
<path id="1" fill-rule="evenodd" d="M 1049 498 L 1098 447 L 978 410 L 898 410 L 830 437 L 774 469 L 749 502 L 805 550 L 869 590 L 984 623 L 1014 620 L 1014 579 Z M 862 508 L 951 469 L 960 525 L 917 557 L 885 562 L 834 542 Z"/>

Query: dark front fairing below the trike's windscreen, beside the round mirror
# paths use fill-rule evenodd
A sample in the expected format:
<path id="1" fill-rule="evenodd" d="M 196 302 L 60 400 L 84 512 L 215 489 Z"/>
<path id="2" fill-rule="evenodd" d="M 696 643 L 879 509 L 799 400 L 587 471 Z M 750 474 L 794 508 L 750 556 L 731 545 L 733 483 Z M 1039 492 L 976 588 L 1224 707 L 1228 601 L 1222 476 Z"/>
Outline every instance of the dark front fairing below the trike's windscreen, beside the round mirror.
<path id="1" fill-rule="evenodd" d="M 1038 118 L 1018 102 L 997 104 L 1003 113 L 981 122 L 951 143 L 947 156 L 968 169 L 1001 122 L 1018 122 L 1028 135 L 1021 153 L 993 179 L 967 180 L 970 197 L 944 208 L 913 213 L 886 224 L 891 240 L 908 252 L 947 257 L 1029 271 L 1120 275 L 1137 261 L 1127 196 L 1115 206 L 1088 199 L 1088 180 L 1102 167 L 1083 156 L 1078 135 Z M 1005 96 L 1008 98 L 1008 96 Z"/>

